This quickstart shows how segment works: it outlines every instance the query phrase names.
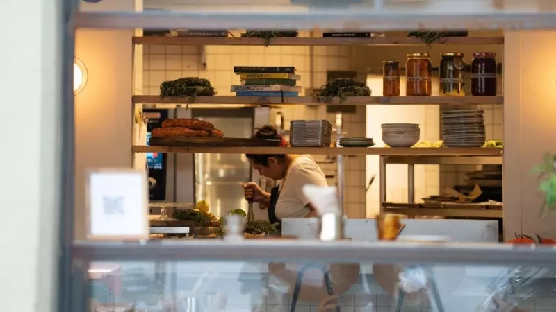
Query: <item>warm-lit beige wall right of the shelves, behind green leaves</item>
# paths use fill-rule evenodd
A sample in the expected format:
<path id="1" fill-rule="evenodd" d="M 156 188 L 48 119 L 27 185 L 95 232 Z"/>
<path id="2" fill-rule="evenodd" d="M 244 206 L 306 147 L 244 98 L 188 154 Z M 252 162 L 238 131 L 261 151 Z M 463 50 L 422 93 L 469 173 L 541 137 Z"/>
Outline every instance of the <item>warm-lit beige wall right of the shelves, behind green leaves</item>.
<path id="1" fill-rule="evenodd" d="M 543 196 L 532 168 L 556 153 L 556 31 L 505 33 L 504 226 L 556 237 L 556 212 L 539 218 Z"/>

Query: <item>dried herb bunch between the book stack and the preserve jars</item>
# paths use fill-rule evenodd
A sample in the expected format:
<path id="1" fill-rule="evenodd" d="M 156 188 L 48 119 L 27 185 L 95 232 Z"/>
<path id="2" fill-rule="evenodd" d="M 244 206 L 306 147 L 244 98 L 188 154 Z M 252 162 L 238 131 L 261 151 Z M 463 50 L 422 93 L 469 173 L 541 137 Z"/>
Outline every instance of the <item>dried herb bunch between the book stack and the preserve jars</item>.
<path id="1" fill-rule="evenodd" d="M 338 96 L 343 102 L 348 96 L 370 96 L 370 94 L 370 89 L 364 81 L 354 78 L 334 78 L 320 87 L 313 96 L 320 98 L 321 101 L 329 101 L 332 97 Z"/>

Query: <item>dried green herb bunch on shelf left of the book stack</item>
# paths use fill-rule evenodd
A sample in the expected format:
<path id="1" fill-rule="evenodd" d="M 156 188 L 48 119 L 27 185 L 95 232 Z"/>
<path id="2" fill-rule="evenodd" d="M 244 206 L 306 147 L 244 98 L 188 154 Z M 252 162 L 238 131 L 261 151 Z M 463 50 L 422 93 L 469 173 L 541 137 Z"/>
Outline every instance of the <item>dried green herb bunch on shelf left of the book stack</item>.
<path id="1" fill-rule="evenodd" d="M 179 78 L 161 83 L 161 98 L 165 97 L 190 97 L 195 101 L 195 96 L 213 96 L 216 89 L 208 79 L 198 77 Z"/>

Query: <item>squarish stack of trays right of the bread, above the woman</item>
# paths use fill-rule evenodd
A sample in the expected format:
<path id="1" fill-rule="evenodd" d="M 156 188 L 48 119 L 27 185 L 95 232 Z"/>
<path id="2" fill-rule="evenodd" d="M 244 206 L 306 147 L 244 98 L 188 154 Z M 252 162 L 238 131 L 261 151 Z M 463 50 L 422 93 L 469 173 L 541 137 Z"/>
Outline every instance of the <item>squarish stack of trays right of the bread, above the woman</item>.
<path id="1" fill-rule="evenodd" d="M 290 121 L 291 146 L 330 146 L 332 125 L 325 120 Z"/>

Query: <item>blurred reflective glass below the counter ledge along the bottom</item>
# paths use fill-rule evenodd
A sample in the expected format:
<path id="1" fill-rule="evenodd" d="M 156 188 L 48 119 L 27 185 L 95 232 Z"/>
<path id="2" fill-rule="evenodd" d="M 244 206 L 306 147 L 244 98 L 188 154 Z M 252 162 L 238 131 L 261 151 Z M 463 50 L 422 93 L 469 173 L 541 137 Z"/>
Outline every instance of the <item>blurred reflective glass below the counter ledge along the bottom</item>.
<path id="1" fill-rule="evenodd" d="M 556 266 L 93 262 L 90 311 L 556 311 Z M 135 310 L 131 310 L 135 309 Z"/>

